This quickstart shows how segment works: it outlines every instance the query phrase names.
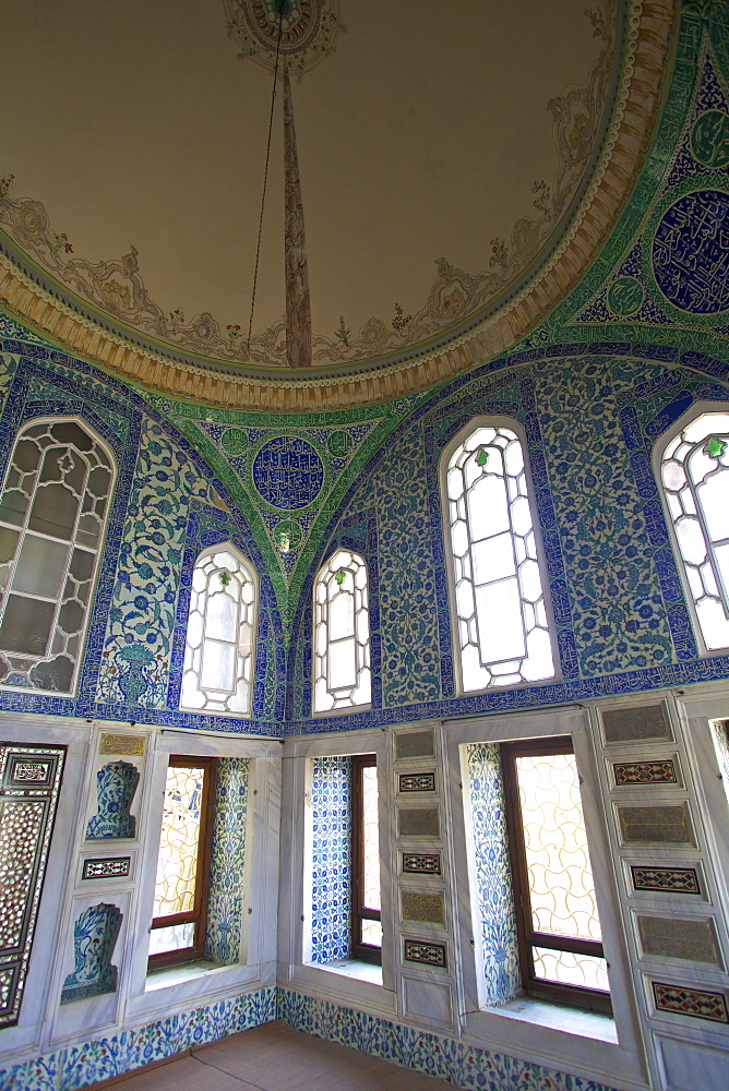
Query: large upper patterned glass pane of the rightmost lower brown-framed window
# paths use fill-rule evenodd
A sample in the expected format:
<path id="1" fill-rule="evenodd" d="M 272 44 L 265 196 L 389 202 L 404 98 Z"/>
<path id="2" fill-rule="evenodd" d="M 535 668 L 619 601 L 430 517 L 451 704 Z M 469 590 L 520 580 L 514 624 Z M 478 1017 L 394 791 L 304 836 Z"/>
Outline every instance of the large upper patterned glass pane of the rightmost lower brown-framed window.
<path id="1" fill-rule="evenodd" d="M 518 757 L 516 774 L 534 930 L 599 940 L 574 755 Z"/>

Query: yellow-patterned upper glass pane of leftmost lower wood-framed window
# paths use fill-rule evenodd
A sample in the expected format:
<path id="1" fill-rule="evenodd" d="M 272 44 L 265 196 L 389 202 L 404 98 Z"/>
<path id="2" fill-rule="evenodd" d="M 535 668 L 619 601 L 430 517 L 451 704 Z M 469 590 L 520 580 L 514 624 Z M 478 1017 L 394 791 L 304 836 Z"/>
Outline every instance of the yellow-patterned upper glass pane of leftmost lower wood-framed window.
<path id="1" fill-rule="evenodd" d="M 194 908 L 204 770 L 170 766 L 165 783 L 154 916 Z"/>

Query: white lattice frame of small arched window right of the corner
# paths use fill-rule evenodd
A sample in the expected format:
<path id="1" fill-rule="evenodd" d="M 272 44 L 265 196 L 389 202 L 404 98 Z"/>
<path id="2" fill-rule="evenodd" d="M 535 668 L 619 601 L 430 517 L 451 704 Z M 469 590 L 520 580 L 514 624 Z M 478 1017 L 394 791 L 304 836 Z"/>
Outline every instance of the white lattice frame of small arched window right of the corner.
<path id="1" fill-rule="evenodd" d="M 359 566 L 364 571 L 364 586 L 358 588 L 356 584 L 356 577 L 354 580 L 354 591 L 352 597 L 355 599 L 354 603 L 354 640 L 355 640 L 355 671 L 357 676 L 357 683 L 354 686 L 337 686 L 336 690 L 351 690 L 352 693 L 358 691 L 362 683 L 367 683 L 367 690 L 369 691 L 369 696 L 367 700 L 352 702 L 350 697 L 337 697 L 333 688 L 330 687 L 328 678 L 328 650 L 332 643 L 330 637 L 330 616 L 328 616 L 328 606 L 332 600 L 330 596 L 330 586 L 333 579 L 336 579 L 336 571 L 344 568 L 347 571 L 346 565 L 337 565 L 336 561 L 339 554 L 346 553 L 352 558 L 354 561 L 359 562 Z M 318 591 L 321 586 L 325 587 L 325 599 L 323 602 L 318 602 Z M 358 607 L 358 598 L 363 599 L 363 603 Z M 323 616 L 322 616 L 323 615 Z M 358 619 L 363 615 L 363 626 L 367 630 L 366 639 L 363 642 L 359 640 L 358 637 Z M 325 631 L 325 647 L 322 654 L 316 650 L 319 628 L 324 627 Z M 350 712 L 354 710 L 361 711 L 363 708 L 370 708 L 372 704 L 372 659 L 371 659 L 371 632 L 370 632 L 370 573 L 369 566 L 366 559 L 357 550 L 348 549 L 346 546 L 337 546 L 337 548 L 332 552 L 328 559 L 319 568 L 316 576 L 314 578 L 313 596 L 312 596 L 312 648 L 311 648 L 311 706 L 314 717 L 321 716 L 338 716 L 343 712 Z M 367 672 L 362 679 L 362 672 Z M 325 692 L 332 698 L 332 705 L 328 708 L 318 708 L 316 707 L 316 682 L 321 678 L 324 681 Z M 360 682 L 359 680 L 362 679 Z"/>

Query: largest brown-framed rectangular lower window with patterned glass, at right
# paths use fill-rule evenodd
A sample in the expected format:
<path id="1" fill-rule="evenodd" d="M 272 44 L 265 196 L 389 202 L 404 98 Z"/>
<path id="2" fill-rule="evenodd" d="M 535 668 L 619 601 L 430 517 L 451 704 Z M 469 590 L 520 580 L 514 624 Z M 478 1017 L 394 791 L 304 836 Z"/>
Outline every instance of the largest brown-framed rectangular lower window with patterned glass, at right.
<path id="1" fill-rule="evenodd" d="M 501 744 L 523 988 L 610 1010 L 572 740 Z"/>

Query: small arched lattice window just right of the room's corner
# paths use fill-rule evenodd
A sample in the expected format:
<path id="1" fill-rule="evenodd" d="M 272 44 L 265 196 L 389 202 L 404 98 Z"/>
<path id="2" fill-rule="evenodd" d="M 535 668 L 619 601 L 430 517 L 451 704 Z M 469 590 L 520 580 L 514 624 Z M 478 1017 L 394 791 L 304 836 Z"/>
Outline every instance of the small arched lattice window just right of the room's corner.
<path id="1" fill-rule="evenodd" d="M 314 583 L 314 712 L 369 705 L 367 565 L 338 549 Z"/>

